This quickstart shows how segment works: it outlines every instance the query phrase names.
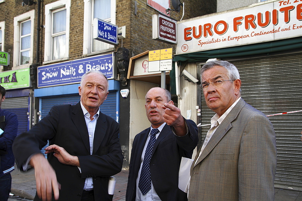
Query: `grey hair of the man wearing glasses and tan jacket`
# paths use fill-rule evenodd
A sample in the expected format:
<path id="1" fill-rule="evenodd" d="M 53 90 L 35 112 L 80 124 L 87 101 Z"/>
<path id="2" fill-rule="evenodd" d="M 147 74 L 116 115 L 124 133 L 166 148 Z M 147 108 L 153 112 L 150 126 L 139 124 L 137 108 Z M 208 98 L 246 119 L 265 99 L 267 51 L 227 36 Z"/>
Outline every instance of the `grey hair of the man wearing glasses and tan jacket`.
<path id="1" fill-rule="evenodd" d="M 230 80 L 240 79 L 238 69 L 236 68 L 236 66 L 234 64 L 231 64 L 228 61 L 209 61 L 209 62 L 207 62 L 206 64 L 204 64 L 201 67 L 200 77 L 202 76 L 204 71 L 206 71 L 210 68 L 213 68 L 214 66 L 221 66 L 221 67 L 225 68 L 227 71 L 227 76 L 229 77 Z"/>

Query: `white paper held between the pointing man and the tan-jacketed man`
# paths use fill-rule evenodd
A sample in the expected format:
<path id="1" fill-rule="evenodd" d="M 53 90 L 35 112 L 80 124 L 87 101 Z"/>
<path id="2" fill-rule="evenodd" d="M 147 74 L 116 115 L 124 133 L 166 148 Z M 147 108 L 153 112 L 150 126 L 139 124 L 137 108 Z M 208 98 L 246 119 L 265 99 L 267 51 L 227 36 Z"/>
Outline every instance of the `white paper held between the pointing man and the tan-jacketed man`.
<path id="1" fill-rule="evenodd" d="M 190 180 L 190 168 L 193 159 L 182 157 L 178 173 L 178 188 L 185 193 L 188 193 L 188 184 Z"/>

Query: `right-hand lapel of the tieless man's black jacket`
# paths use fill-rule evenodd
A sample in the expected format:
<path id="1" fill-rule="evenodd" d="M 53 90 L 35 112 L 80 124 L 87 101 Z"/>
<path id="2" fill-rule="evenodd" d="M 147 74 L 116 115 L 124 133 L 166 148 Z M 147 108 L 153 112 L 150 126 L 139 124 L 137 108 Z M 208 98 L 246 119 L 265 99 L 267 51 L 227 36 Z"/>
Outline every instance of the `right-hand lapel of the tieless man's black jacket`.
<path id="1" fill-rule="evenodd" d="M 106 122 L 105 115 L 100 111 L 100 115 L 98 117 L 98 121 L 95 126 L 92 154 L 95 154 L 95 152 L 98 150 L 105 137 L 106 130 L 107 130 L 107 124 L 105 124 L 105 122 Z"/>

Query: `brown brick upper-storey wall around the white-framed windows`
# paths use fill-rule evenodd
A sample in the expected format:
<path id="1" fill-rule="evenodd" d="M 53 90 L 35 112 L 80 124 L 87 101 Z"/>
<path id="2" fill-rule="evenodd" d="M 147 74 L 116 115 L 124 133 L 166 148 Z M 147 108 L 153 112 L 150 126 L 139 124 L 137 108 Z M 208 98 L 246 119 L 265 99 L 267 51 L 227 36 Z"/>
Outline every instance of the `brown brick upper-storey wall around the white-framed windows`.
<path id="1" fill-rule="evenodd" d="M 36 1 L 37 2 L 37 1 Z M 56 2 L 56 0 L 41 1 L 40 9 L 40 24 L 45 23 L 45 5 Z M 116 48 L 123 47 L 130 50 L 130 57 L 137 55 L 146 50 L 163 49 L 173 47 L 164 42 L 159 42 L 152 39 L 152 15 L 158 14 L 154 8 L 147 5 L 146 0 L 137 0 L 137 13 L 135 14 L 134 0 L 116 0 L 116 25 L 126 26 L 126 38 L 123 41 L 120 39 Z M 172 3 L 170 8 L 173 9 Z M 6 0 L 0 4 L 0 21 L 5 21 L 5 52 L 10 54 L 9 67 L 5 70 L 10 70 L 13 61 L 13 36 L 14 36 L 14 17 L 25 12 L 35 10 L 35 26 L 33 30 L 34 51 L 33 63 L 42 65 L 44 60 L 44 28 L 40 28 L 39 36 L 39 52 L 38 59 L 36 58 L 36 37 L 37 37 L 37 4 L 22 6 L 22 0 Z M 204 14 L 213 13 L 216 11 L 216 0 L 200 1 L 200 0 L 185 0 L 185 15 L 183 19 L 197 17 Z M 181 11 L 173 11 L 171 17 L 175 20 L 180 20 L 182 17 Z M 70 9 L 70 37 L 69 37 L 69 59 L 81 58 L 83 54 L 83 19 L 84 19 L 84 1 L 72 0 Z"/>

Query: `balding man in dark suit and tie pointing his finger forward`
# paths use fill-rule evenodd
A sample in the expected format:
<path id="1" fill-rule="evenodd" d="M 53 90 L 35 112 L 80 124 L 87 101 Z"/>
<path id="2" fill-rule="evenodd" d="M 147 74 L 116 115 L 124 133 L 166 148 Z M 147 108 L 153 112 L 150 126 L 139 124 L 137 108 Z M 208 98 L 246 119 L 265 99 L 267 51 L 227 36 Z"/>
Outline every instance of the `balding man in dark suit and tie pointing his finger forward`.
<path id="1" fill-rule="evenodd" d="M 178 188 L 178 171 L 197 146 L 197 126 L 182 117 L 168 90 L 150 89 L 145 108 L 151 127 L 133 140 L 126 200 L 188 200 Z"/>

